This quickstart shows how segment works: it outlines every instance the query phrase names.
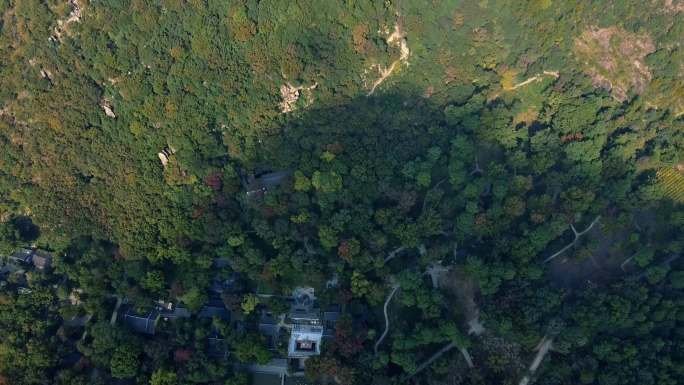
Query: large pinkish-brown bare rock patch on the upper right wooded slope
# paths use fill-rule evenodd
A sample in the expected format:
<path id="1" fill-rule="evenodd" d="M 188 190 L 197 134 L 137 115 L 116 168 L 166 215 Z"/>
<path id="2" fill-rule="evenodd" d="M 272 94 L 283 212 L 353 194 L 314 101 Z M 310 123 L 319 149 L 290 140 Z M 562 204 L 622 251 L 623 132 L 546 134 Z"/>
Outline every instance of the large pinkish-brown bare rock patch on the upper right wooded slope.
<path id="1" fill-rule="evenodd" d="M 655 52 L 655 44 L 646 34 L 592 27 L 575 39 L 574 51 L 594 85 L 615 100 L 627 100 L 630 91 L 641 94 L 651 82 L 645 58 Z"/>

